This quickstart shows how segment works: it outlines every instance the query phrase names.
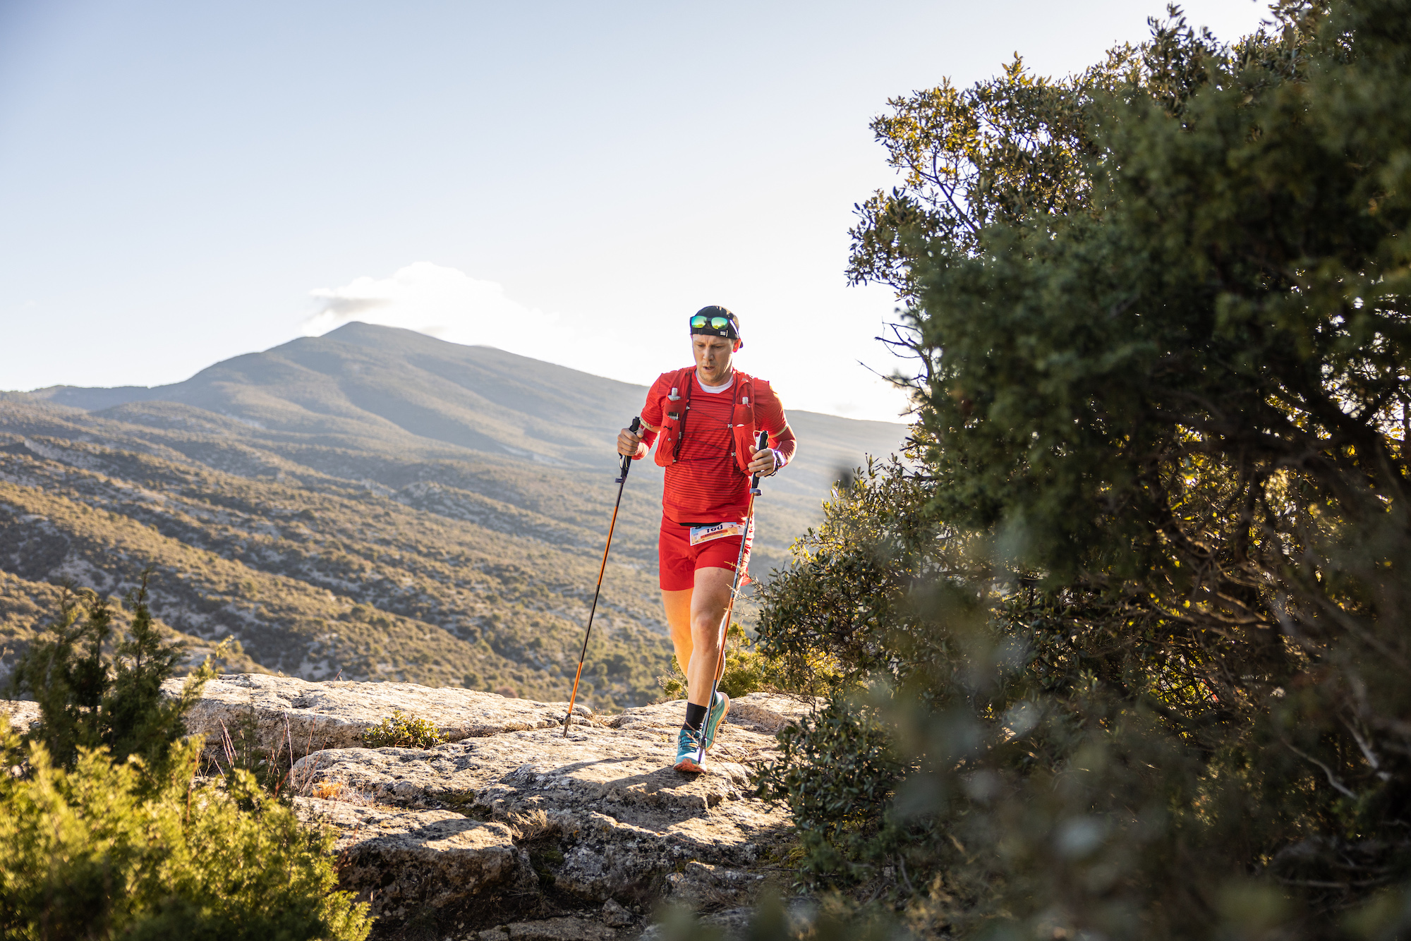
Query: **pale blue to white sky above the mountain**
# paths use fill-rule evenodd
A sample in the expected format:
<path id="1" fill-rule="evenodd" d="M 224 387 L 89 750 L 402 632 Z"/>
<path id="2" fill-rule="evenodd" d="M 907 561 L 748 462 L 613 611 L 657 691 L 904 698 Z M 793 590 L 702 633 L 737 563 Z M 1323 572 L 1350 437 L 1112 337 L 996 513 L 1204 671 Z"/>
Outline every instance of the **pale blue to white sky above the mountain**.
<path id="1" fill-rule="evenodd" d="M 1221 38 L 1267 16 L 1191 0 Z M 1160 0 L 0 0 L 0 389 L 161 385 L 349 320 L 646 384 L 741 317 L 790 408 L 896 419 L 868 123 Z"/>

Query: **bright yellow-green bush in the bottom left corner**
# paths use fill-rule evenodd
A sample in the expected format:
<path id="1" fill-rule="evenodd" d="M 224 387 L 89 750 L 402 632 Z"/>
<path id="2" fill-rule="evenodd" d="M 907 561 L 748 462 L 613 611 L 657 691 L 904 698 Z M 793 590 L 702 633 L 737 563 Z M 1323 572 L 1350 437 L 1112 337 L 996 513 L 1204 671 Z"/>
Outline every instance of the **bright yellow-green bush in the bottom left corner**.
<path id="1" fill-rule="evenodd" d="M 0 924 L 4 937 L 363 941 L 367 904 L 334 892 L 333 835 L 238 770 L 198 784 L 202 741 L 165 770 L 80 746 L 72 770 L 0 722 Z"/>

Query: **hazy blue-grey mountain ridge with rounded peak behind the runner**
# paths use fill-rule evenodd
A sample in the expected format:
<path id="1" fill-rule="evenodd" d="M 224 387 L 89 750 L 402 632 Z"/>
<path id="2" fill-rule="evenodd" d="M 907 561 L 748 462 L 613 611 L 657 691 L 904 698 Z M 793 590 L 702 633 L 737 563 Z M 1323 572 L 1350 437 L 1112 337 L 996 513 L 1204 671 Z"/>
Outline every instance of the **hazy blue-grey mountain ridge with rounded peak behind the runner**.
<path id="1" fill-rule="evenodd" d="M 368 348 L 384 358 L 395 356 L 401 365 L 419 372 L 423 388 L 408 391 L 385 374 L 387 364 L 378 357 L 353 354 Z M 330 394 L 329 380 L 337 394 Z M 267 391 L 272 388 L 279 392 Z M 429 402 L 430 392 L 439 394 L 440 401 Z M 626 425 L 641 409 L 646 387 L 495 347 L 453 344 L 413 330 L 354 322 L 322 337 L 299 337 L 261 353 L 223 360 L 182 382 L 150 388 L 58 385 L 25 395 L 89 412 L 171 401 L 254 420 L 268 430 L 310 432 L 317 420 L 325 423 L 317 429 L 325 433 L 353 432 L 353 425 L 364 426 L 358 429 L 364 435 L 371 426 L 382 433 L 401 429 L 416 437 L 484 453 L 528 454 L 600 467 L 601 436 L 615 435 L 617 427 Z M 787 403 L 787 398 L 785 401 Z M 467 420 L 467 412 L 476 412 L 477 418 Z M 615 418 L 604 422 L 604 415 Z M 528 423 L 525 416 L 531 419 Z M 828 433 L 835 433 L 838 423 L 847 423 L 849 429 L 865 429 L 869 437 L 893 435 L 899 439 L 904 429 L 900 423 L 804 409 L 789 409 L 789 416 L 807 430 Z M 564 435 L 564 426 L 580 433 Z M 497 433 L 487 433 L 490 430 Z M 511 446 L 508 439 L 518 439 L 523 446 Z"/>

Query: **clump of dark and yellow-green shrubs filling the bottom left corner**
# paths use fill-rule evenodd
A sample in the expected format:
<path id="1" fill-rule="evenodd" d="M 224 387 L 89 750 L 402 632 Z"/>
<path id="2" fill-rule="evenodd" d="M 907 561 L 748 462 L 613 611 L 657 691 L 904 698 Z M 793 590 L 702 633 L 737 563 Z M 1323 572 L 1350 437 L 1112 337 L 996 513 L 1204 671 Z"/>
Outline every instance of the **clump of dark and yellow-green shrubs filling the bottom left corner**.
<path id="1" fill-rule="evenodd" d="M 145 581 L 145 577 L 144 577 Z M 21 738 L 0 715 L 0 925 L 7 938 L 361 941 L 367 904 L 336 892 L 333 835 L 303 827 L 244 769 L 196 776 L 203 741 L 159 687 L 182 652 L 144 588 L 130 629 L 109 601 L 65 594 L 13 677 L 41 710 Z"/>

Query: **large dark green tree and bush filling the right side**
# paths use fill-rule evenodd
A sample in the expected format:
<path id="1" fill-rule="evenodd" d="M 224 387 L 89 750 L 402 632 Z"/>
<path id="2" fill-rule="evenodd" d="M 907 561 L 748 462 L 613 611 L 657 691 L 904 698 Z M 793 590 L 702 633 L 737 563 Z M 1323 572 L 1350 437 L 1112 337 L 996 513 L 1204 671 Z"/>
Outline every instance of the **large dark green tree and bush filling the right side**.
<path id="1" fill-rule="evenodd" d="M 975 227 L 865 217 L 854 260 L 913 302 L 914 463 L 763 590 L 766 649 L 834 664 L 762 780 L 817 883 L 928 934 L 1411 930 L 1408 24 L 1174 21 L 917 111 Z"/>

